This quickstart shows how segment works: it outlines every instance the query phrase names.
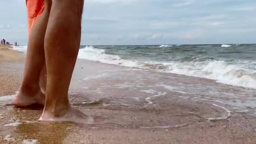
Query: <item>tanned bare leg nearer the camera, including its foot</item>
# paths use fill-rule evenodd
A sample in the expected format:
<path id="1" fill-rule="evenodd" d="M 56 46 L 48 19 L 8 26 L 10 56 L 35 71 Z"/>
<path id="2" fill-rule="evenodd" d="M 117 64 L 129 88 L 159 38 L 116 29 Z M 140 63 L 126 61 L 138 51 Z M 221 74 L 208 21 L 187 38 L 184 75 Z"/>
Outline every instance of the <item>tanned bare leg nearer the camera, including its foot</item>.
<path id="1" fill-rule="evenodd" d="M 45 34 L 47 86 L 39 120 L 92 123 L 69 104 L 68 89 L 81 39 L 83 0 L 54 0 Z"/>

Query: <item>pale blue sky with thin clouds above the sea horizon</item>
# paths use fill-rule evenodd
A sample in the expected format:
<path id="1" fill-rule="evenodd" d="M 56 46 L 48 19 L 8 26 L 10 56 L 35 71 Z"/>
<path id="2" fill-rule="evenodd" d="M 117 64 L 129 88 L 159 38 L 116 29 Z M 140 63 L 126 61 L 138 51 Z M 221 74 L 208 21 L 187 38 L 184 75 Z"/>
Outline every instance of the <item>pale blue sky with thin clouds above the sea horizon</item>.
<path id="1" fill-rule="evenodd" d="M 0 0 L 0 38 L 27 45 L 25 0 Z M 85 0 L 81 45 L 256 43 L 256 0 Z"/>

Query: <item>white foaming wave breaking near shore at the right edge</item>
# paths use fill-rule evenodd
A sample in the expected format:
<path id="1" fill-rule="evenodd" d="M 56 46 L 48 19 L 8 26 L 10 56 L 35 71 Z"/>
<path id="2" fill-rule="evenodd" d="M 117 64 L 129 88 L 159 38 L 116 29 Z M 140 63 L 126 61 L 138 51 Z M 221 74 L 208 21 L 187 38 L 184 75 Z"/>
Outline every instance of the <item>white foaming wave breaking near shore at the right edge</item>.
<path id="1" fill-rule="evenodd" d="M 226 61 L 165 62 L 167 71 L 179 75 L 203 77 L 228 85 L 256 88 L 256 71 Z"/>

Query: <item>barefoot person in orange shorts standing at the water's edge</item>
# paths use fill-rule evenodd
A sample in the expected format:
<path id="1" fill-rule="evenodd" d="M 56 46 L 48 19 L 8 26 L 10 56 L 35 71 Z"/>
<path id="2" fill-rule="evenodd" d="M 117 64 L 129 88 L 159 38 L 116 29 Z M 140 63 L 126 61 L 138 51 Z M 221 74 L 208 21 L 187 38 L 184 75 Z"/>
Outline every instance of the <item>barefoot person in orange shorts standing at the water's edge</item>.
<path id="1" fill-rule="evenodd" d="M 83 4 L 84 0 L 26 0 L 27 58 L 13 104 L 44 105 L 39 120 L 93 122 L 92 117 L 73 108 L 68 99 L 81 40 Z"/>

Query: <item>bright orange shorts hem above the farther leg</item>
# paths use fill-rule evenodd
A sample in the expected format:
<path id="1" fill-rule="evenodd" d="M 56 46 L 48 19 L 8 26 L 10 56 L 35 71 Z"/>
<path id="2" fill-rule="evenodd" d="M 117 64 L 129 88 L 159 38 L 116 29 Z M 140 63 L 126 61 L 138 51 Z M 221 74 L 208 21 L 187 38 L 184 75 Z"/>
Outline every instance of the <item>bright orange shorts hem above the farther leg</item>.
<path id="1" fill-rule="evenodd" d="M 28 22 L 28 33 L 30 35 L 30 30 L 34 26 L 35 21 L 43 13 L 45 8 L 45 0 L 26 0 L 27 6 L 27 22 Z"/>

